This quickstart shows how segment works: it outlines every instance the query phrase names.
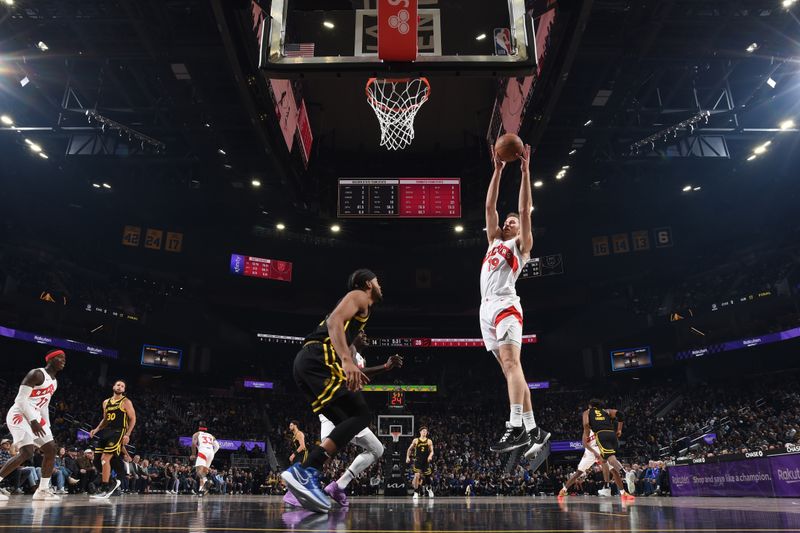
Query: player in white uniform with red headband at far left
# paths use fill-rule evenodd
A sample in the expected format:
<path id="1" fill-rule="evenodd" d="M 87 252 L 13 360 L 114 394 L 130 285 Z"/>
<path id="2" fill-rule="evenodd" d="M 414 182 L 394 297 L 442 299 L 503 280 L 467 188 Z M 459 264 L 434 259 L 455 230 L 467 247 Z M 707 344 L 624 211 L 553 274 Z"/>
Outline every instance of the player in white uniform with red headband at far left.
<path id="1" fill-rule="evenodd" d="M 0 481 L 22 463 L 33 457 L 35 448 L 42 450 L 42 478 L 33 494 L 34 500 L 60 500 L 50 492 L 50 476 L 55 464 L 56 445 L 50 429 L 50 400 L 58 387 L 56 374 L 67 364 L 63 350 L 52 350 L 45 355 L 44 368 L 34 368 L 19 386 L 14 405 L 8 410 L 6 424 L 19 453 L 0 469 Z M 0 489 L 0 501 L 8 499 L 8 491 Z"/>

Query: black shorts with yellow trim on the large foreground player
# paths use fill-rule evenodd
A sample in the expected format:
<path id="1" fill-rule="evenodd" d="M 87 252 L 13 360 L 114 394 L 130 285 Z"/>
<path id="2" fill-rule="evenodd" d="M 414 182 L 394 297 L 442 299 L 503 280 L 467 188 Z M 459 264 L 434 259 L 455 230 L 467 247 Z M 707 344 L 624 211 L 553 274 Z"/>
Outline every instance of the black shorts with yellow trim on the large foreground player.
<path id="1" fill-rule="evenodd" d="M 348 394 L 347 377 L 328 342 L 308 342 L 294 358 L 294 381 L 315 413 Z"/>

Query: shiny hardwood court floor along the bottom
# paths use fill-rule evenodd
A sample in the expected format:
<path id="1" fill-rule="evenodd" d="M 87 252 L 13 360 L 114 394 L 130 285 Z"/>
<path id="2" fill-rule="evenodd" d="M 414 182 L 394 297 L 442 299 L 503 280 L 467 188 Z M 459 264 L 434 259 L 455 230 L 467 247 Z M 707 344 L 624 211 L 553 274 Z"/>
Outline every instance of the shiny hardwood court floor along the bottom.
<path id="1" fill-rule="evenodd" d="M 65 496 L 0 502 L 3 531 L 400 533 L 784 532 L 800 531 L 800 500 L 762 498 L 353 498 L 327 515 L 285 509 L 276 496 Z"/>

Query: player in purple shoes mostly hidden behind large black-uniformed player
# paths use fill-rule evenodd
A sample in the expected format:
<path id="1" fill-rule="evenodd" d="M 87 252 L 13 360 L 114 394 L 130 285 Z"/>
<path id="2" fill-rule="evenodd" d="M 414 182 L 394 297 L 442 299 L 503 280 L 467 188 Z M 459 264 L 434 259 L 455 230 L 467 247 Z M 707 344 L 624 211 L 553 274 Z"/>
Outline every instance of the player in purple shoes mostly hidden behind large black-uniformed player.
<path id="1" fill-rule="evenodd" d="M 364 330 L 361 330 L 352 346 L 350 346 L 350 351 L 353 354 L 353 361 L 356 363 L 356 366 L 358 366 L 358 368 L 360 368 L 361 371 L 367 375 L 367 377 L 372 378 L 374 375 L 388 372 L 393 368 L 400 368 L 403 366 L 403 358 L 399 355 L 393 355 L 389 357 L 385 364 L 367 368 L 366 360 L 359 353 L 359 350 L 363 350 L 366 345 L 367 334 L 364 333 Z M 323 414 L 319 415 L 319 421 L 321 424 L 319 437 L 321 442 L 331 434 L 331 431 L 333 431 L 333 428 L 336 426 Z M 360 448 L 363 448 L 364 451 L 357 455 L 355 459 L 353 459 L 353 462 L 347 467 L 344 474 L 342 474 L 338 480 L 331 481 L 324 489 L 325 492 L 342 507 L 349 505 L 345 489 L 350 482 L 357 478 L 361 472 L 369 468 L 383 455 L 383 444 L 381 444 L 381 441 L 375 436 L 375 433 L 373 433 L 368 427 L 362 429 L 361 432 L 353 437 L 350 442 L 356 446 L 359 446 Z M 289 505 L 298 507 L 300 506 L 300 503 L 291 492 L 286 493 L 283 501 Z"/>

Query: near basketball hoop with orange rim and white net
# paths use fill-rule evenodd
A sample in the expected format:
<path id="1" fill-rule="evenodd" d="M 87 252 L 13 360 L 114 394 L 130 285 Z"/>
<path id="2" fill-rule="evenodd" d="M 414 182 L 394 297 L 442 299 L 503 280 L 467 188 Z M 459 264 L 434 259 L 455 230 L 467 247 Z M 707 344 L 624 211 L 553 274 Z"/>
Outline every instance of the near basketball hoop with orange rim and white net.
<path id="1" fill-rule="evenodd" d="M 381 126 L 381 146 L 402 150 L 414 140 L 414 117 L 428 101 L 431 85 L 427 78 L 378 79 L 367 81 L 367 102 Z"/>

